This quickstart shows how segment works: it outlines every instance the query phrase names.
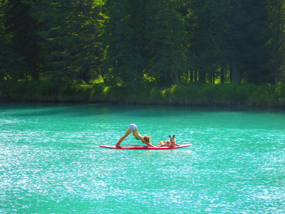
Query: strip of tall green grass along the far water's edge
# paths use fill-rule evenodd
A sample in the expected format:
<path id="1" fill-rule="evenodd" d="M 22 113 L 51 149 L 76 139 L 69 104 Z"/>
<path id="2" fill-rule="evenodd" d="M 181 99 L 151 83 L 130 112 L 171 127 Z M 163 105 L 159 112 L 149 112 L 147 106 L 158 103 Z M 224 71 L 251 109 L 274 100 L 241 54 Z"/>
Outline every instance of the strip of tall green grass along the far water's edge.
<path id="1" fill-rule="evenodd" d="M 170 88 L 105 86 L 104 83 L 18 81 L 0 88 L 0 99 L 171 105 L 285 107 L 285 84 L 187 84 Z"/>

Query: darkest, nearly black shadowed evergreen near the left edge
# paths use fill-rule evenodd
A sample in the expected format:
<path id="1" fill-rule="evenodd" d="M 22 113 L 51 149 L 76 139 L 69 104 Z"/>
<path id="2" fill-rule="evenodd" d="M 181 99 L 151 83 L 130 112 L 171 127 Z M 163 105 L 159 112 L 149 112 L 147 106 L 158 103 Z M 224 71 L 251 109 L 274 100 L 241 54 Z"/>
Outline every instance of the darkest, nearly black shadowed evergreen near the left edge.
<path id="1" fill-rule="evenodd" d="M 12 59 L 16 73 L 22 79 L 32 77 L 38 80 L 38 26 L 37 21 L 31 17 L 31 7 L 24 1 L 9 0 L 5 1 L 3 10 L 6 34 L 10 35 L 11 48 L 14 57 L 17 57 Z"/>

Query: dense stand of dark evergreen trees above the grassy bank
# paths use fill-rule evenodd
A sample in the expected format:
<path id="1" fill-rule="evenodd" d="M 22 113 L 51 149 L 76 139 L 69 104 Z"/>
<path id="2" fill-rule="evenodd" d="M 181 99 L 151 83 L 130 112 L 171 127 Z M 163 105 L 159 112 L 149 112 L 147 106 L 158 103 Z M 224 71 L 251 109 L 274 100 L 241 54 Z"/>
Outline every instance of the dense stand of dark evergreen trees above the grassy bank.
<path id="1" fill-rule="evenodd" d="M 0 80 L 277 84 L 284 11 L 282 0 L 2 0 Z"/>

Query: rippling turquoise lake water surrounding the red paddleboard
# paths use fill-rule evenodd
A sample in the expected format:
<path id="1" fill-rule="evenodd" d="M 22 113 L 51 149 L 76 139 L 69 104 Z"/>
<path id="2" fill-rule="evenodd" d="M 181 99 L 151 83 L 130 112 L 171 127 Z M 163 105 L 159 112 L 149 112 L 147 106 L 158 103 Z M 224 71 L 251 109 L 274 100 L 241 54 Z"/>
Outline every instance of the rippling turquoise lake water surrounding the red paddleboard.
<path id="1" fill-rule="evenodd" d="M 98 147 L 130 123 L 193 145 Z M 284 214 L 284 150 L 284 110 L 2 102 L 0 213 Z"/>

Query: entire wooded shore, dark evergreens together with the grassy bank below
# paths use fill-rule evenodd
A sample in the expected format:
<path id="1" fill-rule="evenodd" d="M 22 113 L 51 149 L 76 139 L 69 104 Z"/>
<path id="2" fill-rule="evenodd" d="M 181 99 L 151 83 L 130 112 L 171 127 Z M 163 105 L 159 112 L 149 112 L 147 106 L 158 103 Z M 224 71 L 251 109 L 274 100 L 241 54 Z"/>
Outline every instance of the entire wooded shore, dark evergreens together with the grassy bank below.
<path id="1" fill-rule="evenodd" d="M 0 99 L 285 106 L 283 0 L 1 0 L 0 20 Z"/>

